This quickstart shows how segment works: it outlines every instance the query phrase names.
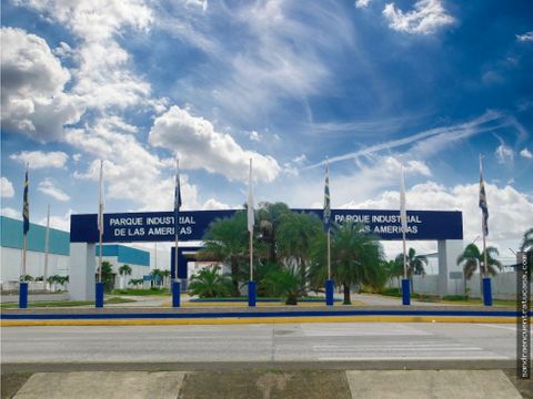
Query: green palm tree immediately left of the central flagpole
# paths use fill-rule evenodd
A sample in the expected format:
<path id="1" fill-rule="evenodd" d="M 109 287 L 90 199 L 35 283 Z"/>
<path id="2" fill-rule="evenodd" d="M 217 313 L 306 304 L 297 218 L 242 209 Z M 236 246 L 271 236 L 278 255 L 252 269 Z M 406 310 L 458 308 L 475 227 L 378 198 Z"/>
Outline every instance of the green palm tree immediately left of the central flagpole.
<path id="1" fill-rule="evenodd" d="M 240 266 L 249 262 L 249 234 L 247 213 L 235 212 L 232 217 L 217 219 L 209 226 L 203 237 L 204 248 L 199 253 L 200 259 L 222 262 L 230 266 L 233 286 L 231 295 L 235 297 L 241 295 Z"/>

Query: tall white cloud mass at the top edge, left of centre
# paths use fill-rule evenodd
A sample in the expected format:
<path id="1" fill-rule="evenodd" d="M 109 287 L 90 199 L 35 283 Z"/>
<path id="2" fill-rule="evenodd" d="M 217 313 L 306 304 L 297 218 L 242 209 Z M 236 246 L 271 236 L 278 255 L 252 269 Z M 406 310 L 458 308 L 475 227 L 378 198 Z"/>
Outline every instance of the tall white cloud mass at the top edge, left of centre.
<path id="1" fill-rule="evenodd" d="M 61 43 L 56 51 L 59 55 L 68 53 L 78 64 L 72 70 L 71 92 L 87 106 L 105 111 L 154 105 L 147 99 L 150 84 L 130 70 L 130 57 L 115 40 L 124 35 L 124 28 L 149 30 L 153 17 L 144 1 L 28 0 L 23 6 L 60 22 L 80 39 L 78 48 Z"/>

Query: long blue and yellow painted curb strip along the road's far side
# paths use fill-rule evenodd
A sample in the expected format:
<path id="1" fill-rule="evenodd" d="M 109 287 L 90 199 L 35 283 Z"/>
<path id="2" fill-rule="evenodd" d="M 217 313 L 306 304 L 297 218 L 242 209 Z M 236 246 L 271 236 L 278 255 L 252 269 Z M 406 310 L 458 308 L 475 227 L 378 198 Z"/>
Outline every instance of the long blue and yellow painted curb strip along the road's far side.
<path id="1" fill-rule="evenodd" d="M 515 323 L 516 311 L 483 307 L 412 306 L 308 308 L 70 308 L 3 309 L 2 327 L 10 326 L 137 326 L 137 325 L 228 325 L 284 323 Z"/>

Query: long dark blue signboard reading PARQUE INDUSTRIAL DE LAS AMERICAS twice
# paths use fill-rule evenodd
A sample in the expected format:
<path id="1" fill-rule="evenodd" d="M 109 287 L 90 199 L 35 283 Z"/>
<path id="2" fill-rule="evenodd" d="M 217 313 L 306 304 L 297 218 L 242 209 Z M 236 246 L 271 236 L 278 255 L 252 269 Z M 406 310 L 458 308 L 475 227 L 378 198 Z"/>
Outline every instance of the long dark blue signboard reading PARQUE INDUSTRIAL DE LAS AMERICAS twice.
<path id="1" fill-rule="evenodd" d="M 180 241 L 201 241 L 209 225 L 219 218 L 231 217 L 238 211 L 180 212 Z M 244 212 L 244 211 L 242 211 Z M 316 214 L 322 209 L 293 209 Z M 332 209 L 333 223 L 362 223 L 368 232 L 381 239 L 402 239 L 400 212 L 374 209 Z M 98 216 L 72 215 L 70 217 L 71 243 L 98 242 Z M 103 215 L 104 243 L 173 242 L 173 212 L 121 213 Z M 408 211 L 408 239 L 463 239 L 461 212 Z"/>

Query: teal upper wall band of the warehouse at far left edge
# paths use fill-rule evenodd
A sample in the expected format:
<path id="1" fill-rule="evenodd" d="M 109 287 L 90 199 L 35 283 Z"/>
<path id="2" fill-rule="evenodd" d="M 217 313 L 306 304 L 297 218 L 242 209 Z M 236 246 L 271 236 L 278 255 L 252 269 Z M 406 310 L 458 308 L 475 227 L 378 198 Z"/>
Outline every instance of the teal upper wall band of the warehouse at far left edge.
<path id="1" fill-rule="evenodd" d="M 0 216 L 1 246 L 22 249 L 22 221 Z M 44 252 L 47 227 L 30 223 L 28 231 L 28 250 Z M 70 234 L 57 228 L 50 228 L 50 254 L 69 255 Z"/>

